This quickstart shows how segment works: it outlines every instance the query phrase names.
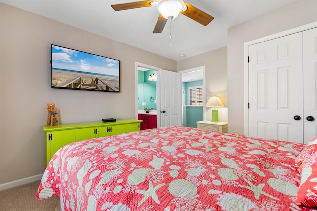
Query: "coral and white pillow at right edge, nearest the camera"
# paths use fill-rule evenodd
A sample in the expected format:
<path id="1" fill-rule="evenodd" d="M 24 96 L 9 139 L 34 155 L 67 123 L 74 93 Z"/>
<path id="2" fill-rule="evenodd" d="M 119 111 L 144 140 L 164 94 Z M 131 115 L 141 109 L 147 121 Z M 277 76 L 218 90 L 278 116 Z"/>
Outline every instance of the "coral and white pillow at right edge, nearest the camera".
<path id="1" fill-rule="evenodd" d="M 317 207 L 317 152 L 306 158 L 298 170 L 301 174 L 301 183 L 295 203 Z"/>

